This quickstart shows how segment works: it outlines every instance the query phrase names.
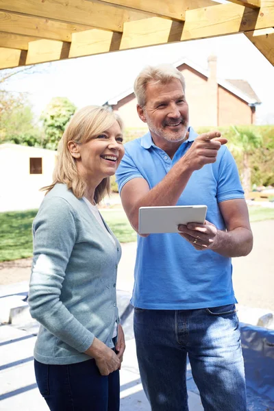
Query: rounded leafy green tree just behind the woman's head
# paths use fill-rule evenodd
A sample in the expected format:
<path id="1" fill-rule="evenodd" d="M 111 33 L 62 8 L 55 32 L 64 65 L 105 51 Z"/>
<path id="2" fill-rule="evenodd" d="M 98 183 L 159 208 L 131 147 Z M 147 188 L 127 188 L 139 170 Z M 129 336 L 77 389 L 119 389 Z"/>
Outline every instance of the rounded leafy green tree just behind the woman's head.
<path id="1" fill-rule="evenodd" d="M 47 108 L 42 112 L 41 120 L 44 128 L 44 148 L 56 150 L 58 142 L 64 133 L 66 124 L 69 122 L 76 107 L 66 97 L 53 97 Z"/>

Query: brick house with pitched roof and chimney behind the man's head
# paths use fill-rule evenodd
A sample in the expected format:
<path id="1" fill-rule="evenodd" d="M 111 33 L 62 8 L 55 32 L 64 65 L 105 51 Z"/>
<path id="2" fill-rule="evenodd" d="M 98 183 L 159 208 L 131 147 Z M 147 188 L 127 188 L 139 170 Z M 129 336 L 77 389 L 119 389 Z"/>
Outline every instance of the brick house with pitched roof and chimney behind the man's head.
<path id="1" fill-rule="evenodd" d="M 190 125 L 222 126 L 254 124 L 256 105 L 261 101 L 245 80 L 223 80 L 216 77 L 216 56 L 208 58 L 208 70 L 184 58 L 174 65 L 186 79 L 186 100 L 189 105 Z M 136 112 L 133 88 L 125 90 L 105 103 L 119 112 L 125 127 L 142 128 L 144 123 Z"/>

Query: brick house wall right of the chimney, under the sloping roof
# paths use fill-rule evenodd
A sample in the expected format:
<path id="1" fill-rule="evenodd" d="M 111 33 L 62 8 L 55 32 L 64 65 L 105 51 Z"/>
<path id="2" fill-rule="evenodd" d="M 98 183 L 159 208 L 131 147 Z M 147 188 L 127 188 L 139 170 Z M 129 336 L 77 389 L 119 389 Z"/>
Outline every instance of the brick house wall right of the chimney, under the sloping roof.
<path id="1" fill-rule="evenodd" d="M 253 114 L 249 105 L 222 86 L 218 87 L 219 125 L 252 124 Z"/>

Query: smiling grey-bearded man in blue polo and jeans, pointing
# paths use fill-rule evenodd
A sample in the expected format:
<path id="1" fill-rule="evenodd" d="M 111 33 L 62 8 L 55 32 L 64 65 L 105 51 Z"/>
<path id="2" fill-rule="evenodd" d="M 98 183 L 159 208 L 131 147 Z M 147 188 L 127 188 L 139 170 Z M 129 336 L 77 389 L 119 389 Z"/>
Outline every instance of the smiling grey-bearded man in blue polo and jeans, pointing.
<path id="1" fill-rule="evenodd" d="M 142 206 L 208 206 L 204 224 L 138 236 L 132 305 L 145 393 L 153 411 L 187 411 L 188 353 L 203 408 L 246 411 L 231 258 L 246 256 L 253 237 L 236 164 L 219 132 L 188 127 L 173 66 L 144 69 L 134 91 L 149 133 L 125 145 L 116 173 L 132 227 Z"/>

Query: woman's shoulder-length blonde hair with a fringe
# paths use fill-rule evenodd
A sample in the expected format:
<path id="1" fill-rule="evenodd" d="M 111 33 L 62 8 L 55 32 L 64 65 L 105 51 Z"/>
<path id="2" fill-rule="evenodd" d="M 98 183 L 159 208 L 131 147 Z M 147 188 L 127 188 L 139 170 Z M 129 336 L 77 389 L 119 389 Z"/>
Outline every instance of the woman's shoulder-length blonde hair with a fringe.
<path id="1" fill-rule="evenodd" d="M 58 158 L 53 171 L 53 182 L 49 186 L 42 187 L 41 191 L 47 193 L 55 184 L 63 183 L 72 190 L 78 199 L 84 196 L 86 182 L 79 176 L 76 160 L 69 151 L 68 142 L 85 143 L 98 136 L 117 121 L 123 132 L 121 117 L 99 105 L 88 105 L 75 112 L 69 121 L 58 145 Z M 105 177 L 95 188 L 95 203 L 99 203 L 106 194 L 110 193 L 110 177 Z"/>

